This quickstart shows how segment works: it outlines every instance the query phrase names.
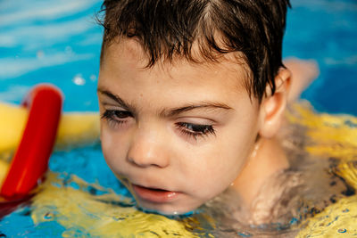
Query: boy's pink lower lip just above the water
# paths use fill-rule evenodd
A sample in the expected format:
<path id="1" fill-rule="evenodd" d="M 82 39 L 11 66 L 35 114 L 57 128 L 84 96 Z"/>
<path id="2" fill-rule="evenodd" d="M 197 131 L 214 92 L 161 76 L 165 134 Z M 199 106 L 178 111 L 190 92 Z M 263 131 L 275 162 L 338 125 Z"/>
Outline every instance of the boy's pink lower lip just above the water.
<path id="1" fill-rule="evenodd" d="M 154 203 L 172 201 L 177 196 L 179 196 L 179 193 L 177 192 L 159 190 L 159 189 L 150 189 L 139 185 L 133 185 L 133 189 L 139 198 Z"/>

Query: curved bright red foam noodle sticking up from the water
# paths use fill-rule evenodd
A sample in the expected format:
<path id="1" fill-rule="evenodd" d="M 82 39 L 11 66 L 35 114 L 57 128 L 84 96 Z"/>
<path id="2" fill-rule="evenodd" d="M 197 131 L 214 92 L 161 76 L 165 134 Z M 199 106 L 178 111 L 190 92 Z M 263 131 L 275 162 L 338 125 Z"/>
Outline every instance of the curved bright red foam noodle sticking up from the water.
<path id="1" fill-rule="evenodd" d="M 22 103 L 29 118 L 15 152 L 0 195 L 4 198 L 27 195 L 48 167 L 62 111 L 62 94 L 51 85 L 35 86 Z"/>

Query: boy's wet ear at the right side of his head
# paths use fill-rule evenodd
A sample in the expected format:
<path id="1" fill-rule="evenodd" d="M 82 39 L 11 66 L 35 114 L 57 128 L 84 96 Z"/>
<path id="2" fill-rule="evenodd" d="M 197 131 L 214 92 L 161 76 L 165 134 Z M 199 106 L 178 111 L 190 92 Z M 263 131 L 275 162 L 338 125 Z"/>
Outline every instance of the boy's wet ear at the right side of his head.
<path id="1" fill-rule="evenodd" d="M 266 87 L 266 96 L 262 99 L 260 110 L 259 135 L 271 138 L 277 134 L 286 109 L 287 95 L 290 89 L 290 70 L 281 68 L 276 76 L 275 94 L 271 94 L 270 86 Z"/>

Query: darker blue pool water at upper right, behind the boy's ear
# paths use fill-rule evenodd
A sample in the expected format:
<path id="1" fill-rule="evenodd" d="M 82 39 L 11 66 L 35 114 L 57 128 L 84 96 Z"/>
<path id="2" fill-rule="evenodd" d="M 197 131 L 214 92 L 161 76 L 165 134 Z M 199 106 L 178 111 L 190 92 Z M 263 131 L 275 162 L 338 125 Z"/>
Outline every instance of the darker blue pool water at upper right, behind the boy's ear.
<path id="1" fill-rule="evenodd" d="M 284 54 L 320 65 L 320 77 L 303 98 L 318 111 L 357 115 L 357 2 L 296 0 L 292 5 Z"/>

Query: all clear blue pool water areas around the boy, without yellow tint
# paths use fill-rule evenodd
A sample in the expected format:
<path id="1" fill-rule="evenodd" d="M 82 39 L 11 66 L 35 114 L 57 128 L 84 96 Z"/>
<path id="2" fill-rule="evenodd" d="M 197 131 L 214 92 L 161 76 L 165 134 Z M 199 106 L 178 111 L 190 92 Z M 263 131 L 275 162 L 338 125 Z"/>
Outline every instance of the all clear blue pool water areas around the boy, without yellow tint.
<path id="1" fill-rule="evenodd" d="M 312 58 L 320 65 L 320 77 L 303 98 L 318 111 L 357 116 L 357 3 L 295 0 L 292 5 L 284 55 Z M 102 29 L 95 23 L 95 12 L 100 6 L 97 0 L 0 1 L 0 101 L 21 103 L 31 86 L 49 82 L 62 89 L 64 111 L 97 111 Z M 49 167 L 126 193 L 107 168 L 99 145 L 54 152 Z M 39 230 L 24 213 L 4 217 L 0 232 L 8 236 L 62 233 L 62 226 L 56 224 Z"/>

